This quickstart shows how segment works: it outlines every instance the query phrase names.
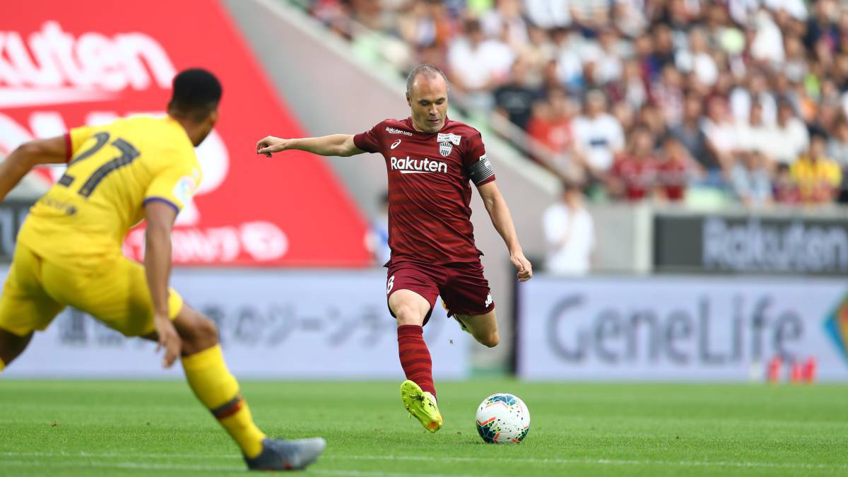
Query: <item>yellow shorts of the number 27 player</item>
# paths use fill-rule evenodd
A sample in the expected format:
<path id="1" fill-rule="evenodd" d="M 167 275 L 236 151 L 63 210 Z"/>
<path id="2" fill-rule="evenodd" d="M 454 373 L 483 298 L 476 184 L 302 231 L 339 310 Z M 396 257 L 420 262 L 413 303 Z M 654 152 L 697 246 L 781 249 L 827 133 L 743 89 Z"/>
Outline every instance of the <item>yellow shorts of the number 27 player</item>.
<path id="1" fill-rule="evenodd" d="M 169 291 L 168 313 L 174 319 L 182 297 Z M 147 277 L 135 261 L 121 256 L 92 272 L 75 272 L 19 243 L 0 297 L 0 328 L 20 336 L 43 330 L 64 306 L 85 311 L 125 336 L 154 330 Z"/>

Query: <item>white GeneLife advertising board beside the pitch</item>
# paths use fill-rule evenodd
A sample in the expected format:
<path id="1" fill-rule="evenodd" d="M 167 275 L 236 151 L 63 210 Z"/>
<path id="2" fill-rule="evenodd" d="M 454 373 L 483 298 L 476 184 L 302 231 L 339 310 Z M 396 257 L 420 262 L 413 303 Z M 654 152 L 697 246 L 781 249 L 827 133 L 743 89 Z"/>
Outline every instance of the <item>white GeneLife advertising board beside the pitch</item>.
<path id="1" fill-rule="evenodd" d="M 527 379 L 761 380 L 780 356 L 848 380 L 845 280 L 538 276 L 518 319 Z"/>

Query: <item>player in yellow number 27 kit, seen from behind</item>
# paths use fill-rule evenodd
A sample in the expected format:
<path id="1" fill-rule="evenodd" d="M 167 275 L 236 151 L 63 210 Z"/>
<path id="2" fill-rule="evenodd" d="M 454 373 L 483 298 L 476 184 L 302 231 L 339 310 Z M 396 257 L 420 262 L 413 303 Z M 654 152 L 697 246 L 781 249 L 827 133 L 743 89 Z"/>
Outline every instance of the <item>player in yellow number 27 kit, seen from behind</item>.
<path id="1" fill-rule="evenodd" d="M 303 469 L 326 445 L 284 441 L 256 427 L 226 368 L 215 324 L 169 289 L 170 232 L 201 179 L 194 147 L 218 120 L 221 87 L 205 70 L 174 78 L 168 115 L 77 127 L 64 137 L 25 143 L 0 164 L 0 200 L 33 166 L 68 170 L 32 207 L 0 296 L 0 370 L 33 332 L 74 306 L 126 336 L 181 356 L 194 394 L 244 454 L 248 469 Z M 147 220 L 144 266 L 121 254 L 127 231 Z"/>

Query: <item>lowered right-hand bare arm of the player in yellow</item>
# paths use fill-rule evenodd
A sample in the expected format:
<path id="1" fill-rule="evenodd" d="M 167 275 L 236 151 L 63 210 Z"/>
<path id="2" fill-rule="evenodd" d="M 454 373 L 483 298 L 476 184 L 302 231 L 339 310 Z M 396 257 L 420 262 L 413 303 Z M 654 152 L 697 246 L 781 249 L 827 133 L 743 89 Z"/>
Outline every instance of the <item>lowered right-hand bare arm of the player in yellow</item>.
<path id="1" fill-rule="evenodd" d="M 170 368 L 180 356 L 182 342 L 168 313 L 168 280 L 170 278 L 170 230 L 176 210 L 170 204 L 153 200 L 144 205 L 148 227 L 145 231 L 144 272 L 153 299 L 153 326 L 159 335 L 156 351 L 165 348 L 164 368 Z"/>

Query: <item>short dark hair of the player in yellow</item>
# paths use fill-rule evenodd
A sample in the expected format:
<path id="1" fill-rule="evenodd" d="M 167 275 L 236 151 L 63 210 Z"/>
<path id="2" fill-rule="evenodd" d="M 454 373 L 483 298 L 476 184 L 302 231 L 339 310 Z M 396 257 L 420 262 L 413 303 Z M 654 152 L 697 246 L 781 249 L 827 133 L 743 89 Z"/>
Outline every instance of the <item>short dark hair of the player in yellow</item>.
<path id="1" fill-rule="evenodd" d="M 200 68 L 182 70 L 174 76 L 168 111 L 202 121 L 218 107 L 220 81 Z"/>

